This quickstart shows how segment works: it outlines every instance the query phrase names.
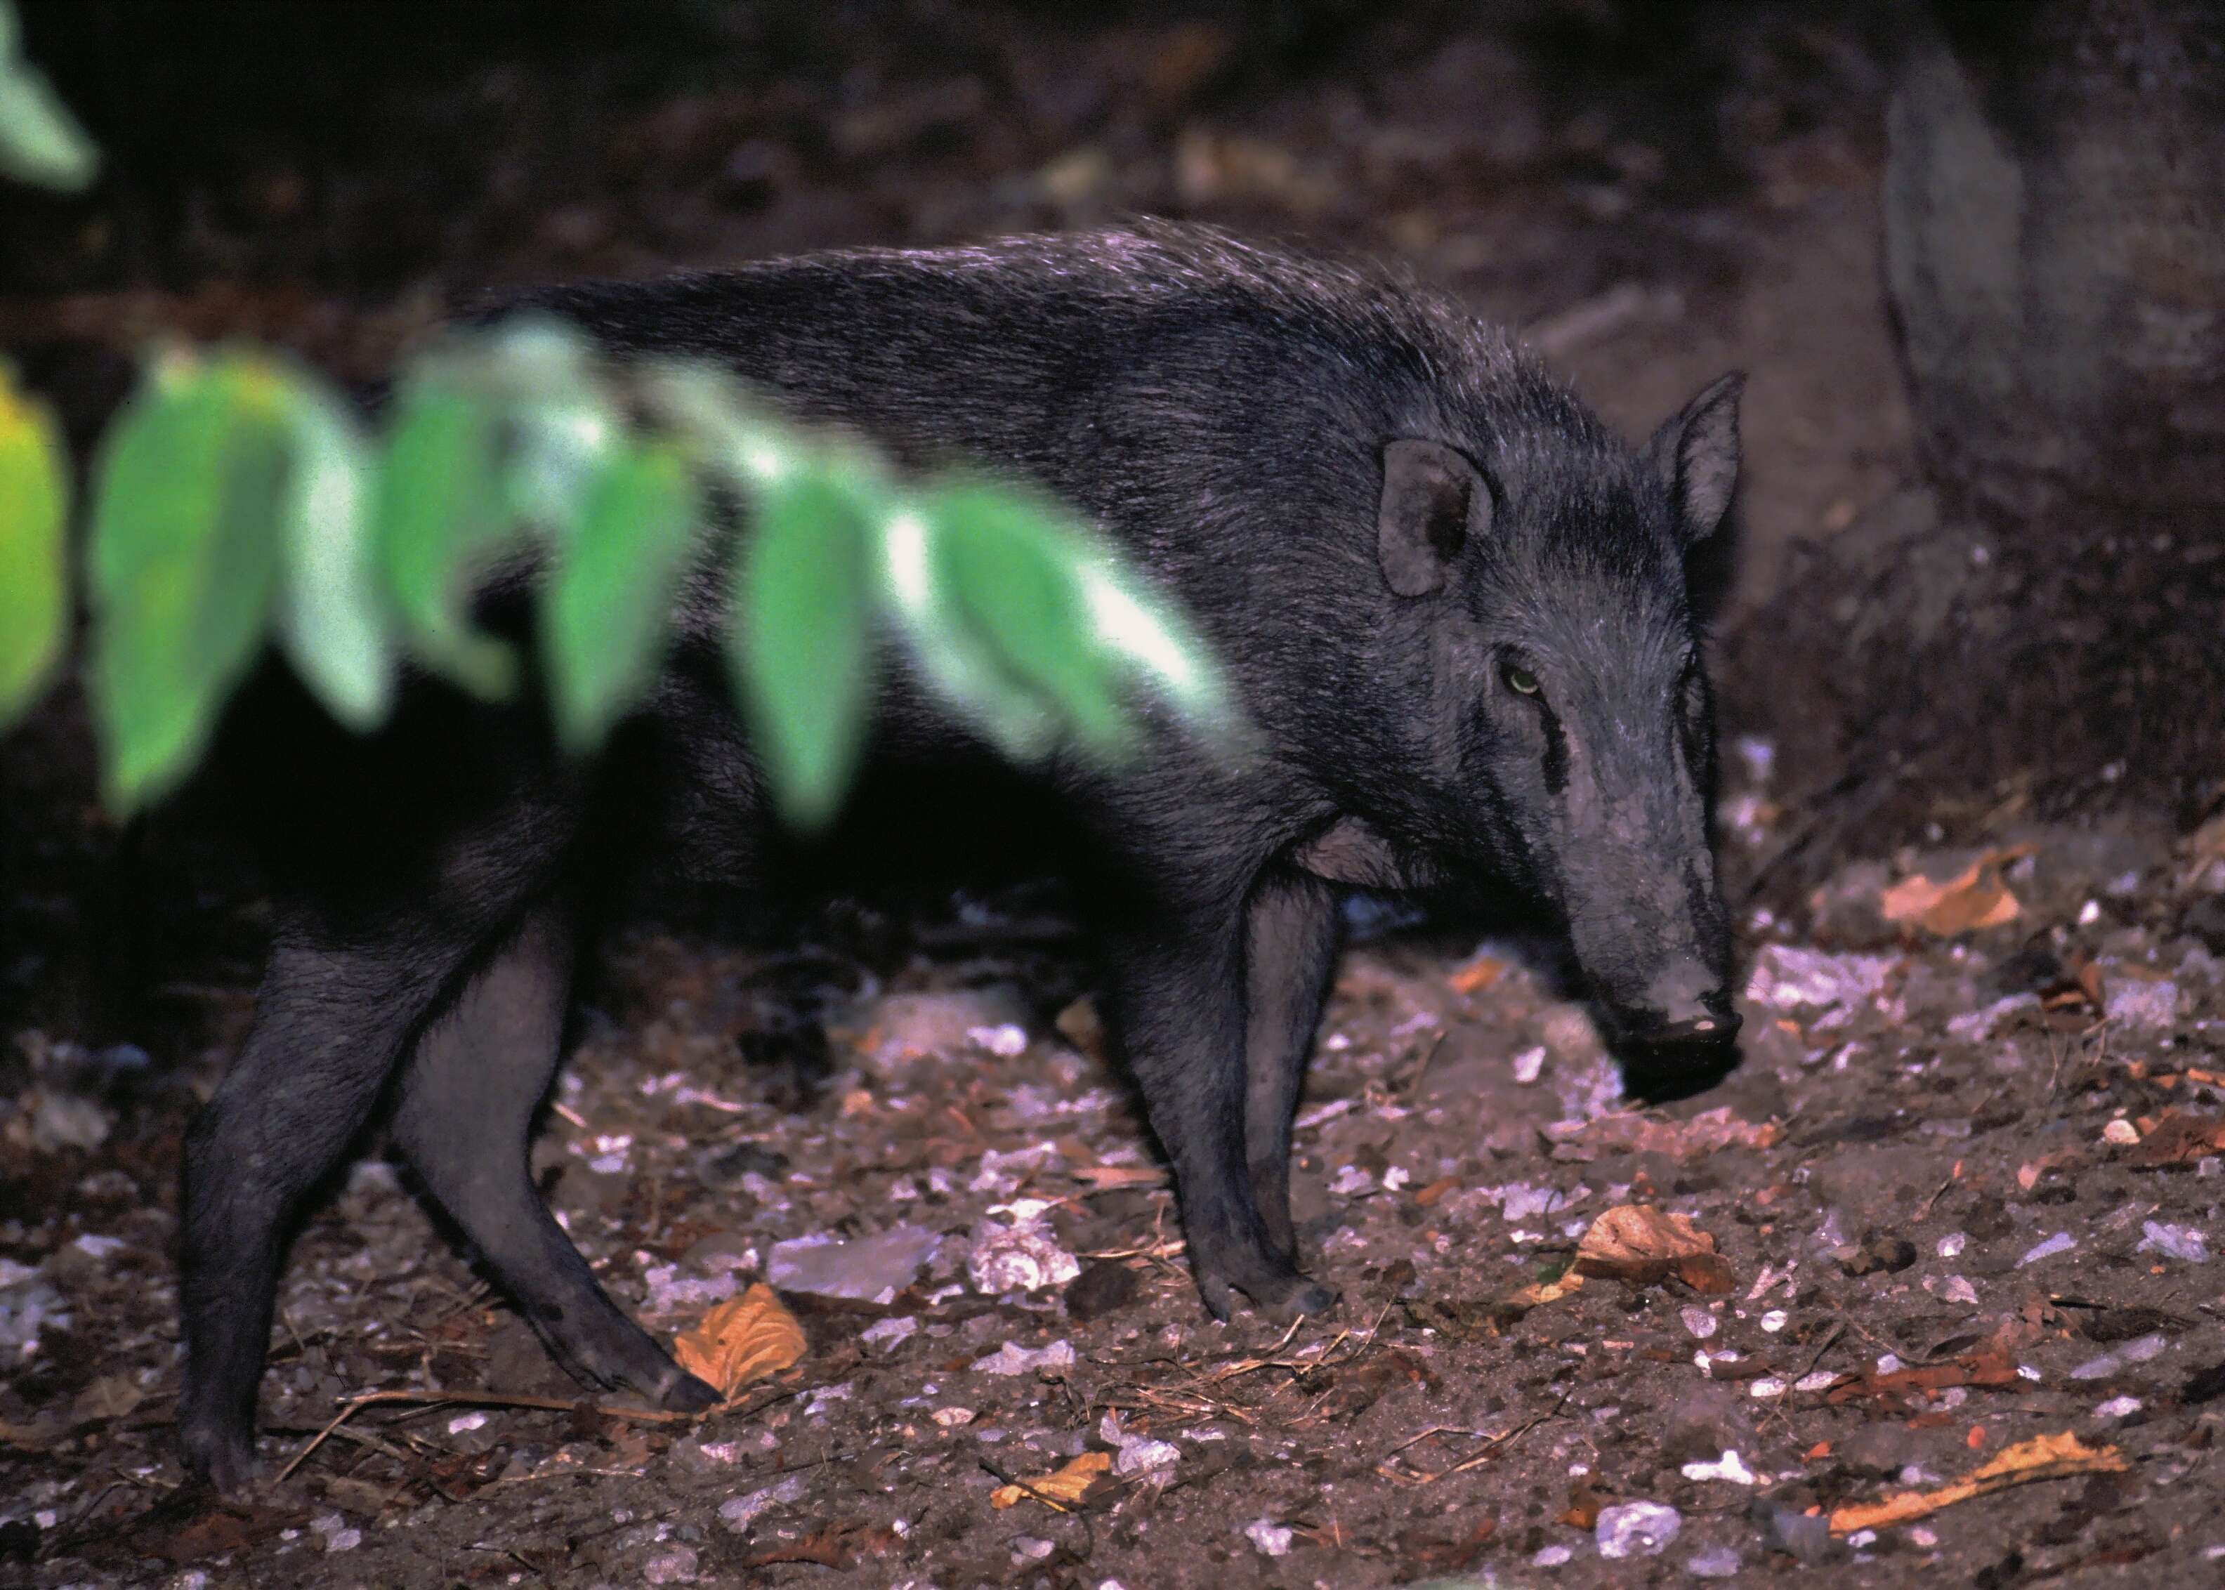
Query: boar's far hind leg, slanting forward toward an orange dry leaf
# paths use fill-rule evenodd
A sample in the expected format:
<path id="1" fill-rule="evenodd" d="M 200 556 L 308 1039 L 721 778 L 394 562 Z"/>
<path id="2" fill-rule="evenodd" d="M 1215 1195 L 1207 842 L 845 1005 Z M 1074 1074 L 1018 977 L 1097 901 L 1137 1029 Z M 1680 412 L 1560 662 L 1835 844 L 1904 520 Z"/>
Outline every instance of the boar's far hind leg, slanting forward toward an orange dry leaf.
<path id="1" fill-rule="evenodd" d="M 536 912 L 418 1039 L 394 1136 L 565 1370 L 708 1408 L 719 1394 L 610 1301 L 532 1183 L 527 1136 L 556 1072 L 570 978 L 567 914 Z"/>

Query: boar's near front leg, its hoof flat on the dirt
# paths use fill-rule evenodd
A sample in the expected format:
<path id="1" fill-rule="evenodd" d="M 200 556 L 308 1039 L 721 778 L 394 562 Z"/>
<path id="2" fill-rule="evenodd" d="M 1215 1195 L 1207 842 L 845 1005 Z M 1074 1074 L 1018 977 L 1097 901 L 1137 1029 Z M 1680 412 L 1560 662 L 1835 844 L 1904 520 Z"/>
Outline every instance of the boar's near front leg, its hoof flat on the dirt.
<path id="1" fill-rule="evenodd" d="M 1173 921 L 1110 938 L 1112 1018 L 1144 1090 L 1150 1127 L 1175 1163 L 1181 1230 L 1197 1292 L 1215 1319 L 1242 1292 L 1264 1314 L 1331 1308 L 1282 1252 L 1253 1199 L 1246 1165 L 1244 936 L 1246 890 L 1188 905 Z M 1288 1219 L 1286 1219 L 1288 1223 Z"/>

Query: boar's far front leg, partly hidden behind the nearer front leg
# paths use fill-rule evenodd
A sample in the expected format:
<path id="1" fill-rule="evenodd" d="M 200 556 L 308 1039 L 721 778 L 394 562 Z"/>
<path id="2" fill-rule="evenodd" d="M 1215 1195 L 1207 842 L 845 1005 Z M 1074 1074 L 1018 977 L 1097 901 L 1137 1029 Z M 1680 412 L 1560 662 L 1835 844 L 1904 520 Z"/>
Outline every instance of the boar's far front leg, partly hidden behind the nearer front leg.
<path id="1" fill-rule="evenodd" d="M 1335 978 L 1342 927 L 1337 894 L 1319 878 L 1270 872 L 1253 890 L 1244 965 L 1244 1156 L 1268 1243 L 1288 1263 L 1297 1263 L 1290 1116 Z"/>

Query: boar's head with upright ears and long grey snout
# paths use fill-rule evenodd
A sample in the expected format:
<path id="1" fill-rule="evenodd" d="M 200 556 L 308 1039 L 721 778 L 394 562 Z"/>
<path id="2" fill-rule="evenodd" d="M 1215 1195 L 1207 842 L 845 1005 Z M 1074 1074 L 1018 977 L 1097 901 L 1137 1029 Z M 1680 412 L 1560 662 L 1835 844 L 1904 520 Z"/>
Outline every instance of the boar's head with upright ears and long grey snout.
<path id="1" fill-rule="evenodd" d="M 1560 916 L 1622 1041 L 1738 1030 L 1684 563 L 1729 509 L 1740 385 L 1707 387 L 1640 451 L 1564 425 L 1384 449 L 1377 556 L 1433 654 L 1437 776 L 1411 816 L 1455 874 Z"/>

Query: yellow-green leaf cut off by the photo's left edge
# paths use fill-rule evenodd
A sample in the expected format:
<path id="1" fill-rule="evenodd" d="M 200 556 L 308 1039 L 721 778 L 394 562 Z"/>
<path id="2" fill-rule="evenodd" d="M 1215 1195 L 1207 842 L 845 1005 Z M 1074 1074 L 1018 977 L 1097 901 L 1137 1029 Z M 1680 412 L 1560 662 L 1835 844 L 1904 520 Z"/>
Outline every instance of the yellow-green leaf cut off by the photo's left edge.
<path id="1" fill-rule="evenodd" d="M 69 474 L 53 416 L 0 365 L 0 727 L 47 683 L 69 629 Z"/>

